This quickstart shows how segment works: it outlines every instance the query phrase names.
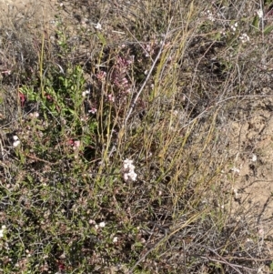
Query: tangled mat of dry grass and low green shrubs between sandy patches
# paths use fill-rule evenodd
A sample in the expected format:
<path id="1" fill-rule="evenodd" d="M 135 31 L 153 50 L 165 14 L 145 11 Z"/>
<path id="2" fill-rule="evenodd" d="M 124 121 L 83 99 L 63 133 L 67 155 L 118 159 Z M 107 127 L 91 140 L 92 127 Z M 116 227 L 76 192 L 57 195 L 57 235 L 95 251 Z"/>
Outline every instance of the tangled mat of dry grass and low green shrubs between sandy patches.
<path id="1" fill-rule="evenodd" d="M 64 1 L 49 36 L 2 25 L 3 273 L 272 271 L 228 149 L 270 86 L 270 34 L 226 2 Z"/>

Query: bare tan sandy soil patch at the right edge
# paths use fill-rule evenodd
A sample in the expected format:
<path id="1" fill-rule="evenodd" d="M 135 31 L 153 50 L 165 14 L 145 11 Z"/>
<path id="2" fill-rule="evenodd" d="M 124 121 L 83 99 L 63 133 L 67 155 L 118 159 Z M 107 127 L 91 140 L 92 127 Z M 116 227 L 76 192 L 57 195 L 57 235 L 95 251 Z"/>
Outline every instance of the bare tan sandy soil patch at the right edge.
<path id="1" fill-rule="evenodd" d="M 268 95 L 272 91 L 268 92 Z M 234 195 L 257 214 L 257 229 L 273 235 L 273 97 L 244 100 L 230 121 L 230 147 L 236 155 Z"/>

